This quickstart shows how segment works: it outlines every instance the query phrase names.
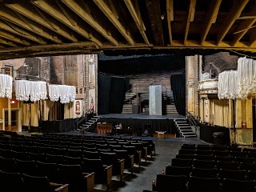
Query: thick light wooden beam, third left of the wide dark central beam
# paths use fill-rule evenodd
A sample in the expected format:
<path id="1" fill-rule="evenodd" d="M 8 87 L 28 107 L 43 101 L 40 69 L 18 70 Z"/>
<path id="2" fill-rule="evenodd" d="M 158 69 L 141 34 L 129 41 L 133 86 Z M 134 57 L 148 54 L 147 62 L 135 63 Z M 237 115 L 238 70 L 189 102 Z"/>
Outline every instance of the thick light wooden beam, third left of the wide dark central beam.
<path id="1" fill-rule="evenodd" d="M 74 13 L 78 14 L 80 18 L 86 21 L 90 26 L 94 27 L 102 36 L 109 40 L 114 46 L 118 46 L 118 41 L 113 38 L 107 31 L 90 16 L 85 10 L 82 9 L 82 5 L 74 0 L 62 0 L 66 6 L 68 6 Z"/>

